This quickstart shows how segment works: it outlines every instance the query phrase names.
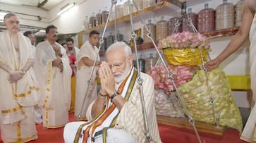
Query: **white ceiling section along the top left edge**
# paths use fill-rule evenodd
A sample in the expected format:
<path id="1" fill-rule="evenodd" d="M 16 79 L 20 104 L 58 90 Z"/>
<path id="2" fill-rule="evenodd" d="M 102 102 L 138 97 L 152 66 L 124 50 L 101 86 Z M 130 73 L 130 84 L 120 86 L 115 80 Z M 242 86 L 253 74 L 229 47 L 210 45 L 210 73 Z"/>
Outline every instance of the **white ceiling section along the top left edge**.
<path id="1" fill-rule="evenodd" d="M 5 3 L 17 6 L 37 7 L 49 11 L 62 1 L 64 0 L 0 0 L 0 4 Z"/>

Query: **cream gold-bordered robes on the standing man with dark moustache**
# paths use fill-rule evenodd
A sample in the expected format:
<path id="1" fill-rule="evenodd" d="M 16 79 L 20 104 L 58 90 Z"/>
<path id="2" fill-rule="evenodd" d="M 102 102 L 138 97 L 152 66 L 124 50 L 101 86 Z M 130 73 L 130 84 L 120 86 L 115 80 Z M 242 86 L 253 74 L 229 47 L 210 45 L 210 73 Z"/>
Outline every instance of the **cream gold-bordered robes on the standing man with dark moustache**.
<path id="1" fill-rule="evenodd" d="M 39 106 L 43 108 L 45 128 L 59 128 L 68 123 L 68 110 L 71 102 L 71 74 L 66 50 L 61 47 L 63 72 L 51 62 L 56 59 L 55 51 L 46 40 L 37 44 L 35 51 L 35 74 L 41 89 Z"/>

